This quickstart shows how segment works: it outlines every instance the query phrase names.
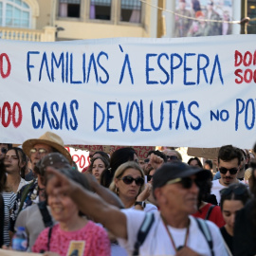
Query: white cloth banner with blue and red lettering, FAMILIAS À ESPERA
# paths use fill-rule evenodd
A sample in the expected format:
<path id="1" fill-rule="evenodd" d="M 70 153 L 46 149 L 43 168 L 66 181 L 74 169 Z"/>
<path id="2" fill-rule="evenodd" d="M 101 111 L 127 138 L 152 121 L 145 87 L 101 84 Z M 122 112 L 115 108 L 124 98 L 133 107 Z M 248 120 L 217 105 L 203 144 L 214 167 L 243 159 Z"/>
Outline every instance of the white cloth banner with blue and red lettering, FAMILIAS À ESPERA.
<path id="1" fill-rule="evenodd" d="M 0 141 L 250 148 L 255 40 L 0 40 Z"/>

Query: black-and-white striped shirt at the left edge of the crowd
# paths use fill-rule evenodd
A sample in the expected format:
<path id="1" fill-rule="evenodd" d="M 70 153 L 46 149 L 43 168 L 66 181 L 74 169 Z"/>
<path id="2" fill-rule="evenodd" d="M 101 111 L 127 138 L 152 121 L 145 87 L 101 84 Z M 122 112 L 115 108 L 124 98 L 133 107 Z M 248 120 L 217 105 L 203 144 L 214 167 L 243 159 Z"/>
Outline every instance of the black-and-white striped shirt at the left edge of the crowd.
<path id="1" fill-rule="evenodd" d="M 16 199 L 15 192 L 2 192 L 5 205 L 5 221 L 4 221 L 4 245 L 9 246 L 9 213 L 13 209 Z"/>

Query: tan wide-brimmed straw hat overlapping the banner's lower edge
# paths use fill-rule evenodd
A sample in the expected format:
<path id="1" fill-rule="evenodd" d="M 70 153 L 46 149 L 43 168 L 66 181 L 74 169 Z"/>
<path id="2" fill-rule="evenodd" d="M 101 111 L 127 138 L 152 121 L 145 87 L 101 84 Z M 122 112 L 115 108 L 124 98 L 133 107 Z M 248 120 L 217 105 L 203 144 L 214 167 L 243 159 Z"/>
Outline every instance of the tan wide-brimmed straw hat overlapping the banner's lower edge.
<path id="1" fill-rule="evenodd" d="M 36 145 L 36 144 L 46 144 L 55 150 L 57 150 L 59 153 L 64 155 L 70 164 L 72 164 L 72 157 L 69 154 L 69 152 L 64 148 L 64 140 L 57 136 L 54 133 L 46 132 L 43 136 L 39 138 L 31 138 L 27 139 L 23 144 L 22 148 L 23 151 L 26 153 L 26 155 L 30 155 L 30 150 Z"/>

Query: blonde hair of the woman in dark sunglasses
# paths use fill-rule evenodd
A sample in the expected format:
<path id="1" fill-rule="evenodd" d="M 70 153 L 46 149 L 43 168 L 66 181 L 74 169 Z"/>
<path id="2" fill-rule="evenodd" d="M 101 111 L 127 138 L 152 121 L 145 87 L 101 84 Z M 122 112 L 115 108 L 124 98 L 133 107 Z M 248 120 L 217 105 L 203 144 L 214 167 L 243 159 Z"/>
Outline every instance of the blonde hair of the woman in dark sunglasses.
<path id="1" fill-rule="evenodd" d="M 126 163 L 123 163 L 119 166 L 119 168 L 117 169 L 117 171 L 115 172 L 114 174 L 114 177 L 112 179 L 112 182 L 109 186 L 109 190 L 112 191 L 112 192 L 116 192 L 117 193 L 117 187 L 116 187 L 116 183 L 115 183 L 115 179 L 116 178 L 120 178 L 122 176 L 122 174 L 124 174 L 124 172 L 129 169 L 129 168 L 132 168 L 132 169 L 135 169 L 137 170 L 140 174 L 141 174 L 141 177 L 144 178 L 144 172 L 142 171 L 142 169 L 140 168 L 140 166 L 135 162 L 135 161 L 129 161 L 129 162 L 126 162 Z M 138 191 L 138 194 L 143 191 L 144 189 L 144 184 L 139 188 L 139 191 Z"/>

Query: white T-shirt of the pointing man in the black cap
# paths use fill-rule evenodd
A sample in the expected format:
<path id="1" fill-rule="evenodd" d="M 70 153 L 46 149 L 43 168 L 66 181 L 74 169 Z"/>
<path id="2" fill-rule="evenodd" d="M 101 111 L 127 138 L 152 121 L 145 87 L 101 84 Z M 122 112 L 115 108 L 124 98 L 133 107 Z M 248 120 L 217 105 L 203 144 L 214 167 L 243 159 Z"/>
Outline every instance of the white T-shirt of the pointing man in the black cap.
<path id="1" fill-rule="evenodd" d="M 137 232 L 140 228 L 145 212 L 142 210 L 122 210 L 126 215 L 127 237 L 128 240 L 118 239 L 119 245 L 125 247 L 128 255 L 132 255 L 135 243 L 137 241 Z M 174 255 L 175 250 L 170 241 L 169 235 L 160 217 L 160 212 L 155 211 L 155 221 L 149 230 L 147 237 L 141 247 L 139 247 L 139 255 Z M 198 228 L 195 219 L 190 216 L 191 225 L 189 230 L 189 237 L 187 247 L 196 251 L 200 255 L 210 256 L 210 247 L 206 241 L 204 234 Z M 227 256 L 223 238 L 220 230 L 210 221 L 207 221 L 213 242 L 213 251 L 215 255 Z M 174 237 L 175 247 L 184 246 L 187 229 L 174 229 L 168 226 L 170 232 Z"/>

